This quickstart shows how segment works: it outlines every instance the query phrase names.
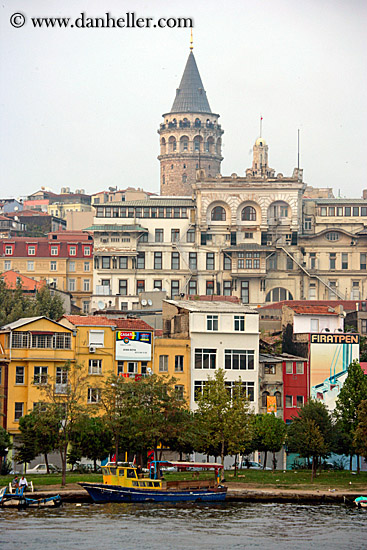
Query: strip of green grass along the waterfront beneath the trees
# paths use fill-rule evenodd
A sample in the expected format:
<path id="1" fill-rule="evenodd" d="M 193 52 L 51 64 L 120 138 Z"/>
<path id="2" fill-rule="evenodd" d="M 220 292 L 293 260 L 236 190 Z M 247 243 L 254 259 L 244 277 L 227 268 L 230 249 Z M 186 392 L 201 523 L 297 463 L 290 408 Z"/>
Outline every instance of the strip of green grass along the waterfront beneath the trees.
<path id="1" fill-rule="evenodd" d="M 213 472 L 202 472 L 198 479 L 212 479 Z M 0 487 L 8 485 L 14 476 L 0 476 Z M 167 481 L 191 480 L 197 479 L 196 472 L 172 472 L 166 473 L 164 478 Z M 46 488 L 48 485 L 61 486 L 61 474 L 42 474 L 27 476 L 28 481 L 33 481 L 35 489 Z M 78 481 L 102 482 L 102 474 L 78 474 L 69 472 L 66 475 L 66 484 L 75 484 Z M 238 470 L 237 476 L 233 470 L 225 472 L 225 480 L 228 486 L 231 483 L 243 483 L 244 488 L 278 488 L 278 489 L 310 489 L 310 490 L 353 490 L 355 492 L 367 493 L 367 472 L 361 472 L 356 475 L 348 470 L 329 471 L 323 470 L 318 473 L 313 483 L 311 483 L 310 470 L 276 470 L 274 473 L 264 470 Z"/>

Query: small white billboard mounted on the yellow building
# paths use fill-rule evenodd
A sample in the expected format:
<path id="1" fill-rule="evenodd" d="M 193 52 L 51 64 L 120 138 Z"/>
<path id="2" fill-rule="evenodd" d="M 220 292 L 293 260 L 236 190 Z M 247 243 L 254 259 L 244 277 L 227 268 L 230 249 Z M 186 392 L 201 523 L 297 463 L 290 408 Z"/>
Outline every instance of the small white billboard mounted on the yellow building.
<path id="1" fill-rule="evenodd" d="M 116 331 L 116 361 L 150 361 L 152 333 L 129 330 Z"/>

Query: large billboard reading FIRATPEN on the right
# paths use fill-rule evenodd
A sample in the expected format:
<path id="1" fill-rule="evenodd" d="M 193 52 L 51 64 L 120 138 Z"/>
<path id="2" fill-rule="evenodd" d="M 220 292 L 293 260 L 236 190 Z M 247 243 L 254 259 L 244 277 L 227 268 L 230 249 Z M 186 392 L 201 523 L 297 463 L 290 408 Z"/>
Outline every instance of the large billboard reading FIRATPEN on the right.
<path id="1" fill-rule="evenodd" d="M 359 334 L 310 334 L 311 387 L 346 372 L 359 359 Z"/>

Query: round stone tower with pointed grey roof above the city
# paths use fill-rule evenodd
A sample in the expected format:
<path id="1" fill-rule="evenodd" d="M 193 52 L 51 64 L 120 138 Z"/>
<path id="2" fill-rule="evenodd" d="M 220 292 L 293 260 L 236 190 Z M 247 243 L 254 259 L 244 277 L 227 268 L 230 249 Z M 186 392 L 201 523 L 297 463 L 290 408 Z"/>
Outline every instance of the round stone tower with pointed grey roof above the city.
<path id="1" fill-rule="evenodd" d="M 195 57 L 190 54 L 169 113 L 158 130 L 160 136 L 161 195 L 192 194 L 196 170 L 214 177 L 223 160 L 223 130 L 212 113 Z"/>

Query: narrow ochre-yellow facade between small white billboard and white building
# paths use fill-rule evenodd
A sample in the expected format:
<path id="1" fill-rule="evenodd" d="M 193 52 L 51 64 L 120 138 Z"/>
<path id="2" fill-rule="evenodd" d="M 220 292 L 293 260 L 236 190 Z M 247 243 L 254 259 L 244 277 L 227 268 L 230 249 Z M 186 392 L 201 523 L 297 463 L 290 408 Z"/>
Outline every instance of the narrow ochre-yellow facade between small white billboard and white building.
<path id="1" fill-rule="evenodd" d="M 156 338 L 154 341 L 154 374 L 176 379 L 175 387 L 190 404 L 190 340 Z"/>

